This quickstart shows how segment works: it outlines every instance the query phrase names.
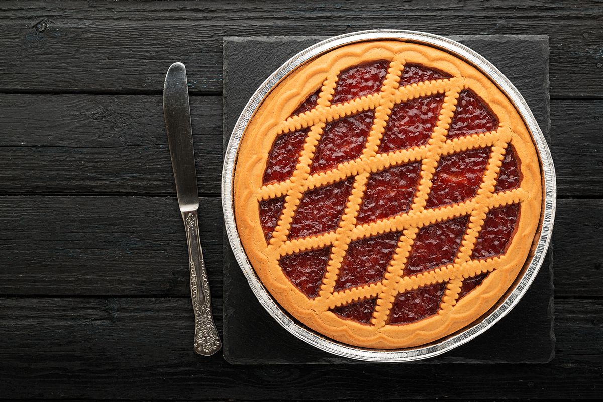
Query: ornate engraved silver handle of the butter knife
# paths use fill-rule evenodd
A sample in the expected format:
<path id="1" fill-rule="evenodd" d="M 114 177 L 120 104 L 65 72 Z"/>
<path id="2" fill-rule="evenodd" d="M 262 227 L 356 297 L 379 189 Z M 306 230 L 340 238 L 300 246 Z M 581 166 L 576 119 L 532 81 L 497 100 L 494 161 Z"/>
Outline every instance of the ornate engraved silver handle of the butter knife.
<path id="1" fill-rule="evenodd" d="M 203 253 L 201 253 L 197 210 L 183 211 L 182 219 L 186 226 L 186 242 L 188 242 L 191 268 L 191 298 L 195 310 L 195 352 L 203 354 L 203 356 L 210 356 L 216 353 L 222 344 L 213 322 L 209 283 Z"/>

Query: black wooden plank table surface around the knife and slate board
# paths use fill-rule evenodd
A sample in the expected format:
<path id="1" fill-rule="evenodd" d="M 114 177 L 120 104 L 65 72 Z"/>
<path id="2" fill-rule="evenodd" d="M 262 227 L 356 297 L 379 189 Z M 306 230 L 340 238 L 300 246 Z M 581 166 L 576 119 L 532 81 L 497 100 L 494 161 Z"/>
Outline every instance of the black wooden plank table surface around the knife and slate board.
<path id="1" fill-rule="evenodd" d="M 221 328 L 222 39 L 368 28 L 549 36 L 551 363 L 232 366 L 194 354 L 166 69 L 189 71 Z M 602 114 L 598 1 L 1 2 L 0 400 L 600 397 Z"/>

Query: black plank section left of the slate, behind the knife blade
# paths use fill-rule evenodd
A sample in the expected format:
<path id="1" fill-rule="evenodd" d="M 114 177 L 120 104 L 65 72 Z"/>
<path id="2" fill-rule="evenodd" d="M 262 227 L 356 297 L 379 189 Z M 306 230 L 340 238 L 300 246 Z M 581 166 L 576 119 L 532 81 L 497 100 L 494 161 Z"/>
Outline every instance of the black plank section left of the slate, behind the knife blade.
<path id="1" fill-rule="evenodd" d="M 191 98 L 201 193 L 219 193 L 221 99 Z M 175 195 L 161 96 L 0 96 L 0 194 Z"/>

